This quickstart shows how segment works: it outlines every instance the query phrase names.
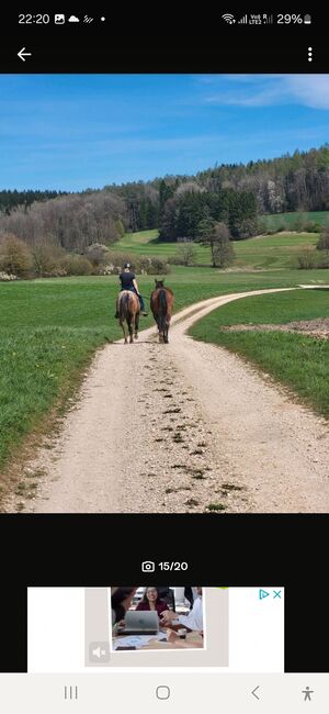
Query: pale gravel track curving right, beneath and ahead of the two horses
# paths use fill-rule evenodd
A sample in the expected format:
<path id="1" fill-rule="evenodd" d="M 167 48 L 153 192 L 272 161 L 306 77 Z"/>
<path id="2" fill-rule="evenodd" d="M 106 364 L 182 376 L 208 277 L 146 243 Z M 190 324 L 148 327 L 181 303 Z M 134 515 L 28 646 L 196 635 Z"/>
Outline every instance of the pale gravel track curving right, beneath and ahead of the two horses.
<path id="1" fill-rule="evenodd" d="M 328 512 L 328 425 L 266 376 L 186 328 L 252 291 L 194 304 L 95 357 L 25 512 Z M 42 475 L 42 476 L 41 476 Z M 27 477 L 26 477 L 27 478 Z M 9 510 L 16 510 L 12 503 Z"/>

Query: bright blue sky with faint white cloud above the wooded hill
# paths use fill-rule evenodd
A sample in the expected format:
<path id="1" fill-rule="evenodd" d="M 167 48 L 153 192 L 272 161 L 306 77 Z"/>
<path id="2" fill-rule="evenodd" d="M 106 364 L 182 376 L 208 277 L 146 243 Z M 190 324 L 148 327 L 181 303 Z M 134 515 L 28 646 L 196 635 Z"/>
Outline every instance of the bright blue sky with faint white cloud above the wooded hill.
<path id="1" fill-rule="evenodd" d="M 0 75 L 0 189 L 77 191 L 329 142 L 329 75 Z"/>

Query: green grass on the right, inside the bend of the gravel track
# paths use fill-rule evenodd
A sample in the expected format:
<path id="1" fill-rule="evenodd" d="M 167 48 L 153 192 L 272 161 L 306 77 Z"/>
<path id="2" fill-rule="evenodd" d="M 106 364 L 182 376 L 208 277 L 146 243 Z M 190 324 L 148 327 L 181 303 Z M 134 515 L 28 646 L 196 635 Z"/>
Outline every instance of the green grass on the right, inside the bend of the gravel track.
<path id="1" fill-rule="evenodd" d="M 329 417 L 329 341 L 283 332 L 224 332 L 224 325 L 284 324 L 328 317 L 329 290 L 254 295 L 224 305 L 190 334 L 246 357 Z"/>

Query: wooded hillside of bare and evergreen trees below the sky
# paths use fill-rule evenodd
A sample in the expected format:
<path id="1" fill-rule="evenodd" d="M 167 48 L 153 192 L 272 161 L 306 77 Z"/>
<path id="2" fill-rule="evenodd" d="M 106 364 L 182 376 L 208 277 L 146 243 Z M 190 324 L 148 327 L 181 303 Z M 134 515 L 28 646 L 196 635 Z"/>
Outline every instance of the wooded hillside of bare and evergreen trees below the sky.
<path id="1" fill-rule="evenodd" d="M 166 176 L 83 192 L 1 191 L 0 236 L 48 242 L 82 254 L 125 231 L 160 230 L 162 241 L 201 241 L 204 222 L 229 237 L 260 230 L 268 213 L 329 210 L 329 145 L 248 164 L 222 164 L 195 176 Z M 222 233 L 223 233 L 223 228 Z"/>

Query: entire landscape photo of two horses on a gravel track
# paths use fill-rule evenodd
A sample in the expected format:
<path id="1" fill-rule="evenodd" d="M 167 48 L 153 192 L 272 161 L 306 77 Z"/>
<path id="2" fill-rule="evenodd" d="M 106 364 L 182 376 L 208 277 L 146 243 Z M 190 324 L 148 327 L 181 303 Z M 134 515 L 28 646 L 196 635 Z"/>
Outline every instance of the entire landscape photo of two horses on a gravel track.
<path id="1" fill-rule="evenodd" d="M 0 511 L 328 513 L 329 75 L 0 97 Z"/>

